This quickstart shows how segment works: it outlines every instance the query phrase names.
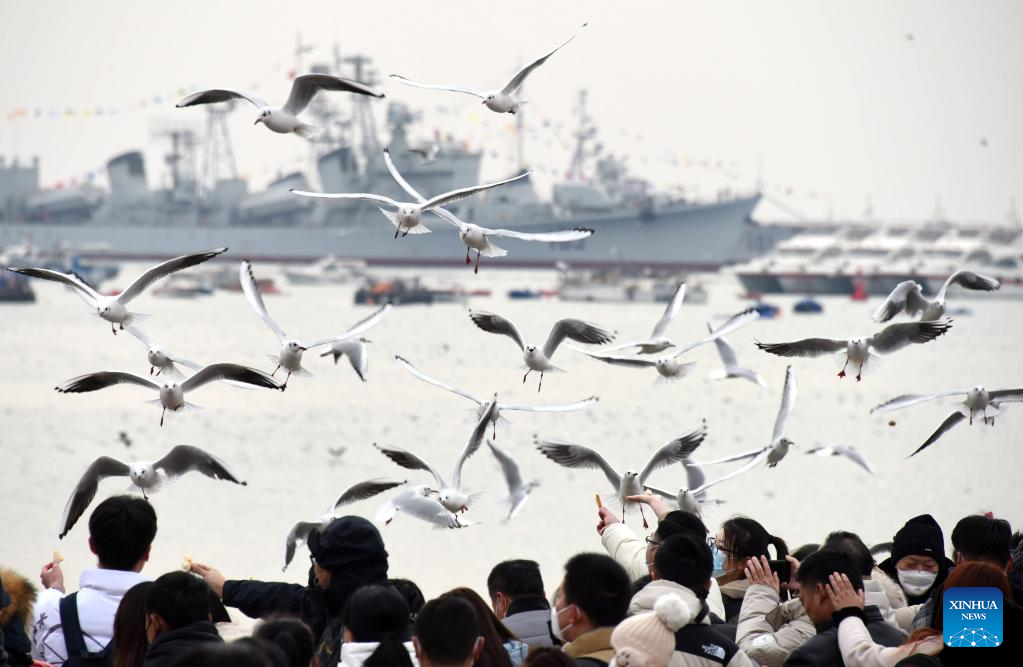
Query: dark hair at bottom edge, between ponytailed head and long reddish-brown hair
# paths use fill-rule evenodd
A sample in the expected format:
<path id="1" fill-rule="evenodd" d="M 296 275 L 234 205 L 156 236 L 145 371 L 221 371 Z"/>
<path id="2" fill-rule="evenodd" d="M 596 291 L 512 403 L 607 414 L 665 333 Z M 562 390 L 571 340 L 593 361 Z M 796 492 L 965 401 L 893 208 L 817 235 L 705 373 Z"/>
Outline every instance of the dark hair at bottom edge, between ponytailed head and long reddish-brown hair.
<path id="1" fill-rule="evenodd" d="M 422 606 L 412 634 L 431 662 L 458 665 L 473 655 L 480 622 L 473 606 L 461 597 L 441 595 Z"/>

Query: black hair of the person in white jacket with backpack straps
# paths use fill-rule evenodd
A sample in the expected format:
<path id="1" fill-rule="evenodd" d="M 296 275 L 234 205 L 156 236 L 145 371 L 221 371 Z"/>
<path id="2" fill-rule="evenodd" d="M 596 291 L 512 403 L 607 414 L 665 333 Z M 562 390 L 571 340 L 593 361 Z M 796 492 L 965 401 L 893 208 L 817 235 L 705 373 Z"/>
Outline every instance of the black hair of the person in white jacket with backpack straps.
<path id="1" fill-rule="evenodd" d="M 157 513 L 142 498 L 110 496 L 89 517 L 89 537 L 101 568 L 131 570 L 155 536 Z"/>

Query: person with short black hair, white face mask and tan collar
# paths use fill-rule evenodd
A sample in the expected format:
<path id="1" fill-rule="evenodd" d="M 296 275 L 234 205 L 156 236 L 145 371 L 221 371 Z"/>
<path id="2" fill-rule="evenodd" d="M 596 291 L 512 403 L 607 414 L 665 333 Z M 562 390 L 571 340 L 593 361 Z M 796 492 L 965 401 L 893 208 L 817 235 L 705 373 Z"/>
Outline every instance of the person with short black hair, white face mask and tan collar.
<path id="1" fill-rule="evenodd" d="M 629 607 L 629 578 L 607 555 L 579 553 L 565 564 L 565 576 L 550 609 L 550 631 L 580 667 L 607 667 L 615 655 L 611 633 Z"/>

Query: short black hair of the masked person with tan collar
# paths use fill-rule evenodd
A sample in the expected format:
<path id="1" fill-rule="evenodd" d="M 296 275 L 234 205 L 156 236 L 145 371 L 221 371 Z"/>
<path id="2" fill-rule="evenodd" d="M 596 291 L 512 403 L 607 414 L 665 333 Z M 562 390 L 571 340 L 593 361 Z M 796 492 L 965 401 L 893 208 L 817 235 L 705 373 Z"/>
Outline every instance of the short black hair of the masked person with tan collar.
<path id="1" fill-rule="evenodd" d="M 594 626 L 618 625 L 625 618 L 630 589 L 622 566 L 603 553 L 579 553 L 565 564 L 562 597 Z"/>

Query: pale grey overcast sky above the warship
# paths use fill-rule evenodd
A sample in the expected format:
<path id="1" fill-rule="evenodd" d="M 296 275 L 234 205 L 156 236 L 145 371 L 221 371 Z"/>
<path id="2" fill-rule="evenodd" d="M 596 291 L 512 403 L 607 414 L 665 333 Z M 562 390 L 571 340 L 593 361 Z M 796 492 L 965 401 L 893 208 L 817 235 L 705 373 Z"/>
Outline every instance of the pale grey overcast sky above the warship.
<path id="1" fill-rule="evenodd" d="M 270 7 L 284 7 L 280 15 Z M 258 84 L 283 101 L 297 33 L 323 59 L 337 42 L 382 75 L 497 86 L 516 65 L 590 27 L 529 80 L 527 153 L 564 169 L 576 90 L 590 90 L 602 138 L 637 174 L 704 193 L 722 183 L 793 188 L 811 215 L 926 219 L 940 194 L 951 218 L 1004 221 L 1023 207 L 1023 2 L 7 2 L 0 9 L 0 155 L 38 154 L 44 184 L 145 148 L 158 180 L 179 89 Z M 911 34 L 913 39 L 906 35 Z M 422 107 L 422 134 L 464 128 L 508 168 L 509 117 L 472 98 L 382 83 Z M 161 106 L 138 108 L 154 95 Z M 24 108 L 116 107 L 117 116 L 5 120 Z M 440 116 L 439 105 L 455 114 Z M 134 106 L 135 108 L 132 108 Z M 381 104 L 383 114 L 384 105 Z M 301 164 L 302 140 L 231 120 L 239 171 L 265 183 Z M 986 139 L 986 147 L 981 139 Z M 666 160 L 682 158 L 678 165 Z M 684 159 L 696 161 L 686 167 Z M 702 161 L 723 169 L 701 167 Z M 728 167 L 728 165 L 732 165 Z M 728 176 L 722 176 L 728 172 Z M 541 181 L 549 182 L 549 175 Z M 811 194 L 812 193 L 812 194 Z"/>

